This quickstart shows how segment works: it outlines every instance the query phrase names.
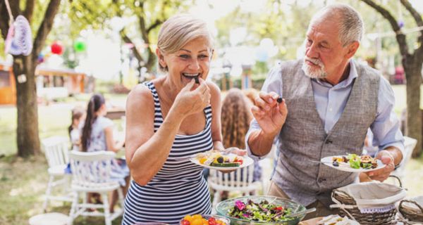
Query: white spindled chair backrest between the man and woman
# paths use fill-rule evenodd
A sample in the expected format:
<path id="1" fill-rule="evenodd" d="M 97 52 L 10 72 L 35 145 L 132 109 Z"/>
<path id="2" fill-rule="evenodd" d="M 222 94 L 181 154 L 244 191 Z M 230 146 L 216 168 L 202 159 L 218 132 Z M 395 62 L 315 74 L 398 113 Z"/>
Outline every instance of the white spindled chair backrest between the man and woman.
<path id="1" fill-rule="evenodd" d="M 253 183 L 254 163 L 248 167 L 240 168 L 235 172 L 222 173 L 210 169 L 209 184 L 219 191 L 250 191 Z"/>

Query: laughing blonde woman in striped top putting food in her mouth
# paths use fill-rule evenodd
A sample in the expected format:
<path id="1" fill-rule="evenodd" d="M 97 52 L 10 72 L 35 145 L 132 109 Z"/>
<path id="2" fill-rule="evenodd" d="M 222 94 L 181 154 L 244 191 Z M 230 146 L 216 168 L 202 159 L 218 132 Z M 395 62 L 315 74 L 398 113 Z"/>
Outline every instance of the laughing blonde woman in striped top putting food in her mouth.
<path id="1" fill-rule="evenodd" d="M 169 18 L 156 53 L 166 76 L 136 86 L 127 101 L 126 160 L 133 181 L 123 224 L 178 224 L 187 214 L 209 214 L 202 167 L 187 157 L 224 150 L 220 91 L 204 81 L 213 53 L 206 23 L 190 15 Z"/>

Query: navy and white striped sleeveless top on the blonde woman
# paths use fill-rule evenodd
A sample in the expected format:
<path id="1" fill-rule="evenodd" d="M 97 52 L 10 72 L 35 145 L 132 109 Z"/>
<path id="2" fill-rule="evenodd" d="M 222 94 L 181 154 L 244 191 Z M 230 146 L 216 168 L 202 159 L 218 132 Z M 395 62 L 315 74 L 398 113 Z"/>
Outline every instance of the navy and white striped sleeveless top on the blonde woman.
<path id="1" fill-rule="evenodd" d="M 153 82 L 144 83 L 154 98 L 154 132 L 161 123 L 160 101 Z M 176 134 L 171 152 L 163 167 L 146 186 L 131 181 L 125 198 L 122 224 L 160 221 L 179 224 L 187 214 L 210 214 L 212 204 L 207 182 L 202 176 L 202 167 L 181 157 L 213 149 L 212 107 L 204 108 L 206 126 L 193 135 Z"/>

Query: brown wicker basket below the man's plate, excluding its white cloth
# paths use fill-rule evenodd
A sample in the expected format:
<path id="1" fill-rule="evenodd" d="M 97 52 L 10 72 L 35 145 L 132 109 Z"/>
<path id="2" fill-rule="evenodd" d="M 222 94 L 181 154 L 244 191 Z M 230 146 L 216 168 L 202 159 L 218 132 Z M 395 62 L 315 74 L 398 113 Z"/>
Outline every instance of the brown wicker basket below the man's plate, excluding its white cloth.
<path id="1" fill-rule="evenodd" d="M 403 188 L 403 184 L 397 176 L 391 176 L 398 179 L 400 188 Z M 384 225 L 384 224 L 397 224 L 396 213 L 397 210 L 393 207 L 392 210 L 387 212 L 373 212 L 373 213 L 362 213 L 357 207 L 357 203 L 354 198 L 345 193 L 344 191 L 334 189 L 332 191 L 332 198 L 338 200 L 339 203 L 345 207 L 341 207 L 339 214 L 342 217 L 349 217 L 355 219 L 360 224 L 372 224 L 372 225 Z"/>

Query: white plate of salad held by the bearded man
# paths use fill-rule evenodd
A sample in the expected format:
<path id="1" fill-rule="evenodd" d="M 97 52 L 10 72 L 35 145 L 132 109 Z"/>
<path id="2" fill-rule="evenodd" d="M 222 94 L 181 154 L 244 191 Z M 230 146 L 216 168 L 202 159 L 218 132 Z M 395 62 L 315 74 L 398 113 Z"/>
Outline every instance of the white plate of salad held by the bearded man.
<path id="1" fill-rule="evenodd" d="M 328 156 L 322 158 L 320 162 L 345 172 L 370 172 L 386 166 L 381 160 L 372 158 L 370 155 L 356 154 Z"/>

